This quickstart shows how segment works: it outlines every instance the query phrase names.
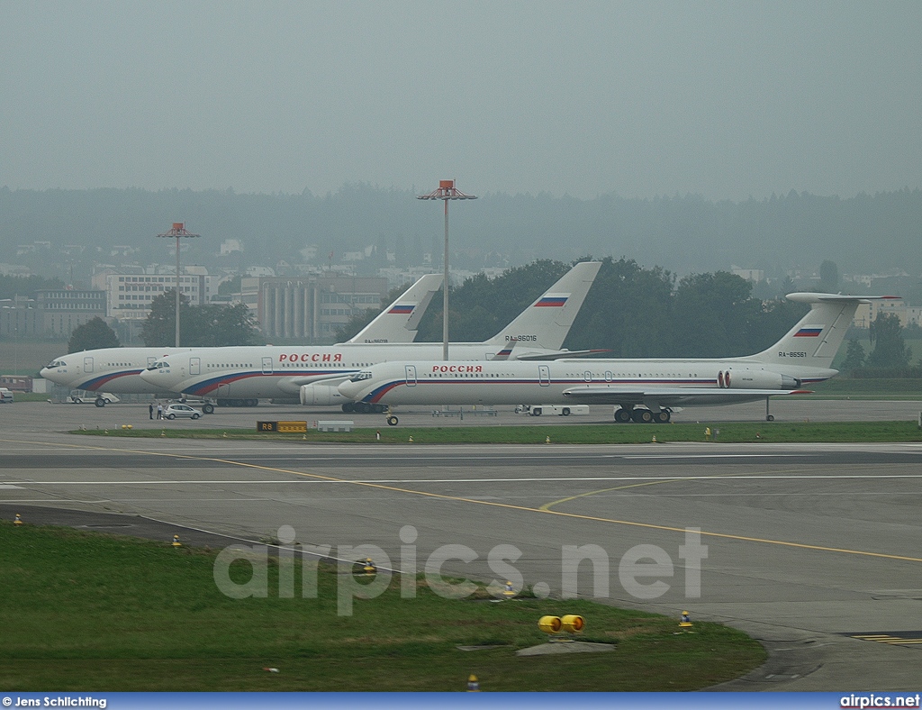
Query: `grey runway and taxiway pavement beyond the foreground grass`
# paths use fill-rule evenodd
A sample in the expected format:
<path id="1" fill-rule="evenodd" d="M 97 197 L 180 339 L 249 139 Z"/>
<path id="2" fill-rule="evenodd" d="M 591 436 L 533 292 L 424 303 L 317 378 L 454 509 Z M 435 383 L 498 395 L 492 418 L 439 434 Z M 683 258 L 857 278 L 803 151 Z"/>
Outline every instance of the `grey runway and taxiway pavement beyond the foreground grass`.
<path id="1" fill-rule="evenodd" d="M 861 409 L 898 419 L 919 403 L 872 405 Z M 0 516 L 165 540 L 175 529 L 256 540 L 290 526 L 306 551 L 349 558 L 350 546 L 374 545 L 379 566 L 418 570 L 441 555 L 447 574 L 521 575 L 555 598 L 575 585 L 677 621 L 683 609 L 724 621 L 771 651 L 724 689 L 918 690 L 922 444 L 349 446 L 63 433 L 140 409 L 0 408 Z M 256 411 L 202 421 L 227 427 Z"/>

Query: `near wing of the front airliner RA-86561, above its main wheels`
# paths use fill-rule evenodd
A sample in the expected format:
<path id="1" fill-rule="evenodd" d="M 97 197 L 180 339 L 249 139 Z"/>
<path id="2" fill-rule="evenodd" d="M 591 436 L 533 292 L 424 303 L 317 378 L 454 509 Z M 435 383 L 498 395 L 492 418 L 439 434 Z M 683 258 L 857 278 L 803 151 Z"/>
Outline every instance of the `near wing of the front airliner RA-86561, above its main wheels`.
<path id="1" fill-rule="evenodd" d="M 689 405 L 751 402 L 778 395 L 809 395 L 806 389 L 722 389 L 719 387 L 632 387 L 630 385 L 585 385 L 563 391 L 579 404 L 646 405 L 680 407 Z"/>

